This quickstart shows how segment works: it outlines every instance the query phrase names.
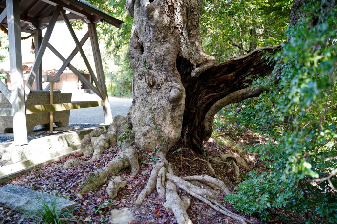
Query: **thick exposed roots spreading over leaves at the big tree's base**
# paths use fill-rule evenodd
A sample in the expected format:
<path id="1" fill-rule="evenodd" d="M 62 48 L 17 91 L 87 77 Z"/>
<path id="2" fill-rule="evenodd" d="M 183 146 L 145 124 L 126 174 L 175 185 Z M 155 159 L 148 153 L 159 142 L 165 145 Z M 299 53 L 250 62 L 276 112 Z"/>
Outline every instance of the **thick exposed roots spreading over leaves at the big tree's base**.
<path id="1" fill-rule="evenodd" d="M 112 131 L 116 133 L 116 129 L 118 127 L 114 127 Z M 109 128 L 110 129 L 110 128 Z M 100 132 L 100 131 L 96 131 Z M 93 135 L 96 133 L 94 132 Z M 108 132 L 105 131 L 105 135 Z M 101 137 L 104 135 L 104 133 L 100 133 L 97 137 L 91 137 L 87 136 L 85 141 L 86 142 L 93 142 L 93 145 L 102 145 L 104 148 L 103 142 L 99 142 Z M 109 141 L 109 140 L 107 140 Z M 106 142 L 106 141 L 105 141 Z M 86 147 L 86 149 L 90 150 L 90 146 Z M 85 151 L 85 150 L 84 150 Z M 101 150 L 93 149 L 93 158 L 91 158 L 89 161 L 93 161 L 94 159 L 97 159 L 100 156 Z M 87 153 L 86 153 L 87 154 Z M 225 164 L 228 164 L 225 162 L 228 158 L 232 159 L 232 164 L 235 169 L 235 176 L 238 177 L 239 174 L 239 168 L 236 164 L 236 158 L 232 155 L 228 156 L 222 156 L 219 157 L 219 160 L 212 159 L 215 162 L 222 162 Z M 187 158 L 186 158 L 187 159 Z M 206 160 L 195 158 L 192 161 L 199 159 L 200 161 L 206 162 L 209 165 L 210 170 L 216 176 L 215 170 L 212 168 L 211 163 L 209 163 Z M 190 160 L 190 159 L 188 159 Z M 82 160 L 68 160 L 65 163 L 65 166 L 71 166 L 71 165 L 78 165 L 78 164 L 84 164 L 88 161 L 82 161 Z M 104 168 L 97 169 L 93 173 L 87 174 L 81 181 L 79 185 L 79 190 L 81 193 L 88 192 L 90 190 L 94 190 L 97 187 L 105 184 L 109 179 L 110 175 L 117 175 L 118 172 L 124 168 L 131 167 L 131 175 L 136 174 L 139 171 L 139 163 L 138 163 L 138 153 L 137 150 L 132 147 L 129 142 L 124 141 L 121 151 L 117 154 L 117 156 L 109 162 Z M 165 186 L 165 180 L 166 180 L 166 186 Z M 154 168 L 151 171 L 149 180 L 147 182 L 146 187 L 140 192 L 138 195 L 137 200 L 135 201 L 135 204 L 140 204 L 144 201 L 144 199 L 151 194 L 151 192 L 156 187 L 158 196 L 159 197 L 165 197 L 166 202 L 164 203 L 164 206 L 166 208 L 172 209 L 176 220 L 179 224 L 192 224 L 192 221 L 190 220 L 189 216 L 186 213 L 187 208 L 190 206 L 190 199 L 187 196 L 183 196 L 181 199 L 177 193 L 177 189 L 174 185 L 180 187 L 181 189 L 184 189 L 188 194 L 191 196 L 205 202 L 206 204 L 210 205 L 213 209 L 216 211 L 221 212 L 222 214 L 232 217 L 234 219 L 237 219 L 245 224 L 251 223 L 248 219 L 245 219 L 244 217 L 241 217 L 239 215 L 236 215 L 226 209 L 223 205 L 221 205 L 217 201 L 217 191 L 211 189 L 207 185 L 201 184 L 200 182 L 197 182 L 196 185 L 193 185 L 192 183 L 188 182 L 197 182 L 201 181 L 203 183 L 207 183 L 209 186 L 213 186 L 214 189 L 221 189 L 224 194 L 228 195 L 231 192 L 227 188 L 227 186 L 222 182 L 221 180 L 217 178 L 210 177 L 208 175 L 201 175 L 201 176 L 189 176 L 189 177 L 182 177 L 179 178 L 174 175 L 172 168 L 170 167 L 169 162 L 165 159 L 165 156 L 160 156 L 160 159 L 158 160 L 157 164 L 154 166 Z M 109 182 L 109 185 L 106 189 L 106 194 L 110 198 L 114 198 L 119 189 L 126 186 L 126 181 L 122 181 L 120 177 L 116 177 L 114 180 Z M 165 187 L 164 187 L 165 186 Z M 198 187 L 201 186 L 201 187 Z"/>

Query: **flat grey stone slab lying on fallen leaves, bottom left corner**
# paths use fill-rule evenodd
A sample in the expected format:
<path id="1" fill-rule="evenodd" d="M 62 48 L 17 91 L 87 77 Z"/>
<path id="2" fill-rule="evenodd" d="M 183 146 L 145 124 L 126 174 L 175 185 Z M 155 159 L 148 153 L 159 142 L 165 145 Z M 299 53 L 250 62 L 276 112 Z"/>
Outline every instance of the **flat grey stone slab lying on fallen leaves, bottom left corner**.
<path id="1" fill-rule="evenodd" d="M 37 213 L 42 203 L 48 205 L 55 203 L 56 211 L 60 214 L 71 211 L 76 207 L 76 203 L 64 198 L 44 194 L 35 190 L 18 187 L 7 184 L 0 187 L 0 206 L 7 207 L 11 210 Z"/>

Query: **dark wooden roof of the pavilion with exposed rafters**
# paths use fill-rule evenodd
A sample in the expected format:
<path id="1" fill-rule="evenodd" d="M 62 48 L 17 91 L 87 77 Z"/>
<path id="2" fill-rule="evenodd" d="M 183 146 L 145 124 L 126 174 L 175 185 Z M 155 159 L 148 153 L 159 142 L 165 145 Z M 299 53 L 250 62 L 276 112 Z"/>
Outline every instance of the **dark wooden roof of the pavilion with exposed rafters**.
<path id="1" fill-rule="evenodd" d="M 32 33 L 34 29 L 43 29 L 49 23 L 56 5 L 68 11 L 70 21 L 98 22 L 105 21 L 116 27 L 123 23 L 85 0 L 19 0 L 21 32 Z M 0 13 L 6 8 L 6 0 L 0 0 Z M 63 22 L 60 15 L 58 22 Z M 7 19 L 2 23 L 7 27 Z"/>

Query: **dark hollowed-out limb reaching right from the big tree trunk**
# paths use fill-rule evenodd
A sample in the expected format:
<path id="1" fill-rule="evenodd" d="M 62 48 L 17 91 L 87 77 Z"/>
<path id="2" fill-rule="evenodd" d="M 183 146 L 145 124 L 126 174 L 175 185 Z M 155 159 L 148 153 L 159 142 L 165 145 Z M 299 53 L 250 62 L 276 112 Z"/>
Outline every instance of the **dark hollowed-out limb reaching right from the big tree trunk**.
<path id="1" fill-rule="evenodd" d="M 213 117 L 221 108 L 262 93 L 262 88 L 246 89 L 244 83 L 251 82 L 247 78 L 265 77 L 272 73 L 275 63 L 267 64 L 266 59 L 261 57 L 265 51 L 272 53 L 274 48 L 278 51 L 281 45 L 257 48 L 244 56 L 213 66 L 197 77 L 181 73 L 186 90 L 182 130 L 188 130 L 184 147 L 201 153 L 202 141 L 211 136 Z M 186 71 L 188 66 L 187 62 L 177 61 L 178 71 Z"/>

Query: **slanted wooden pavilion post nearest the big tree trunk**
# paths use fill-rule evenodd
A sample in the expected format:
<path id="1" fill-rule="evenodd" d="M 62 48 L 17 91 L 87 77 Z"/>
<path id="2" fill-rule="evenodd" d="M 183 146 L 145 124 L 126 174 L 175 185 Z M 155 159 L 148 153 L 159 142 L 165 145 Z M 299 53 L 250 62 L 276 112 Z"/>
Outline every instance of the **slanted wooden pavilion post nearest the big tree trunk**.
<path id="1" fill-rule="evenodd" d="M 96 32 L 96 24 L 88 23 L 88 28 L 89 28 L 91 47 L 92 47 L 92 55 L 94 56 L 94 61 L 95 61 L 95 66 L 96 66 L 97 79 L 101 85 L 101 88 L 102 88 L 101 93 L 103 96 L 103 100 L 105 101 L 105 106 L 103 107 L 105 124 L 111 124 L 112 123 L 112 113 L 111 113 L 110 103 L 109 103 L 107 90 L 106 90 L 101 52 L 100 52 L 100 48 L 98 45 L 98 38 L 97 38 L 97 32 Z"/>

